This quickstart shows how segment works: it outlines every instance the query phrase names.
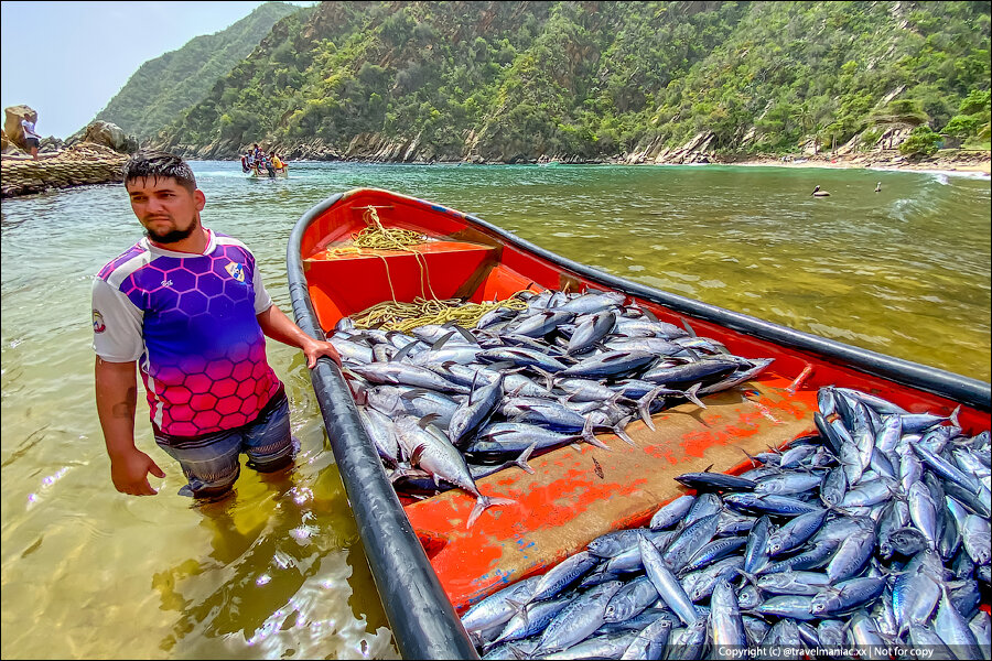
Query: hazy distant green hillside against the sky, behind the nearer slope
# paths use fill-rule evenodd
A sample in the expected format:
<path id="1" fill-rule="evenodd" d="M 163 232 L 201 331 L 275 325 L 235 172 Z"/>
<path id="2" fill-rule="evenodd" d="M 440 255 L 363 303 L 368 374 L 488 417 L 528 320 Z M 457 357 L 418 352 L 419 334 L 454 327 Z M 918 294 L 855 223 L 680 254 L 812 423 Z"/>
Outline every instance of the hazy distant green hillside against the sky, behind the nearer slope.
<path id="1" fill-rule="evenodd" d="M 217 78 L 247 57 L 277 21 L 300 9 L 267 2 L 226 30 L 194 37 L 177 51 L 149 59 L 95 119 L 114 122 L 140 140 L 153 136 L 202 101 Z"/>

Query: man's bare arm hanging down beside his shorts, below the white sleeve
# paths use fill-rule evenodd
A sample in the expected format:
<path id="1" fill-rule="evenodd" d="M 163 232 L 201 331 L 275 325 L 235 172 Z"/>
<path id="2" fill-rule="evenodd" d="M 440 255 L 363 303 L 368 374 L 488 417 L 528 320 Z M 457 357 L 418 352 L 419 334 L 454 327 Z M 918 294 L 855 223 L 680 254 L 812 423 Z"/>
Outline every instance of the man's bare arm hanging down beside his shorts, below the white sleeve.
<path id="1" fill-rule="evenodd" d="M 154 460 L 134 446 L 134 408 L 138 403 L 138 362 L 109 362 L 96 358 L 96 400 L 100 427 L 110 455 L 110 478 L 121 494 L 154 496 L 148 474 L 165 477 Z"/>

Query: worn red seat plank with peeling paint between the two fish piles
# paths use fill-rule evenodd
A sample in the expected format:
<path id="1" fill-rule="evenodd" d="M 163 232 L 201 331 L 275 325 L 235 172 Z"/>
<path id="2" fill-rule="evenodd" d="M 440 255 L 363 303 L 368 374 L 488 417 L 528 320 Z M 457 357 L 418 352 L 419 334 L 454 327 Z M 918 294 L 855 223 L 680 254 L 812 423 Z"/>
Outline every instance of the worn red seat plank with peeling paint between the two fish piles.
<path id="1" fill-rule="evenodd" d="M 675 476 L 711 465 L 714 473 L 740 472 L 751 465 L 744 452 L 754 455 L 815 431 L 816 390 L 794 394 L 789 383 L 766 373 L 707 397 L 705 410 L 686 403 L 656 413 L 655 431 L 640 420 L 630 423 L 634 447 L 601 434 L 610 451 L 562 447 L 531 459 L 533 475 L 510 468 L 484 478 L 483 494 L 516 503 L 487 509 L 471 529 L 465 524 L 475 499 L 462 490 L 414 502 L 407 516 L 462 610 L 601 534 L 646 525 L 658 507 L 689 492 Z"/>

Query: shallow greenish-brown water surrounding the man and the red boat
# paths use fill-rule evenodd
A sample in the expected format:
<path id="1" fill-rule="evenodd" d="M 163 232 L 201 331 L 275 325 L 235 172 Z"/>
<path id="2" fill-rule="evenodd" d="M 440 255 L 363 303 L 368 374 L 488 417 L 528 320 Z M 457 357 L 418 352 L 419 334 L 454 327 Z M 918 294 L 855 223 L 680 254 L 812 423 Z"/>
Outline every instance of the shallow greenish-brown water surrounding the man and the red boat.
<path id="1" fill-rule="evenodd" d="M 471 213 L 629 280 L 988 381 L 990 183 L 780 167 L 193 163 L 208 227 L 245 240 L 291 314 L 285 245 L 376 186 Z M 882 192 L 874 193 L 882 182 Z M 831 193 L 817 199 L 815 185 Z M 2 205 L 2 657 L 397 658 L 302 356 L 269 343 L 302 443 L 193 508 L 181 473 L 117 494 L 94 407 L 90 277 L 140 236 L 120 186 Z"/>

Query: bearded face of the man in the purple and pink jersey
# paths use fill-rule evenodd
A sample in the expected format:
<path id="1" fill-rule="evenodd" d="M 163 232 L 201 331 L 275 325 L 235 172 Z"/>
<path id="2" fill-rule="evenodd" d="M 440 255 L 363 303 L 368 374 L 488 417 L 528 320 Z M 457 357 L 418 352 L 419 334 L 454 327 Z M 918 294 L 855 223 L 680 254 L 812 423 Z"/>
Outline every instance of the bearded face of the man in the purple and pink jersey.
<path id="1" fill-rule="evenodd" d="M 200 227 L 206 199 L 171 177 L 141 177 L 127 183 L 131 209 L 157 243 L 175 243 Z"/>

